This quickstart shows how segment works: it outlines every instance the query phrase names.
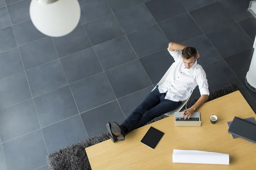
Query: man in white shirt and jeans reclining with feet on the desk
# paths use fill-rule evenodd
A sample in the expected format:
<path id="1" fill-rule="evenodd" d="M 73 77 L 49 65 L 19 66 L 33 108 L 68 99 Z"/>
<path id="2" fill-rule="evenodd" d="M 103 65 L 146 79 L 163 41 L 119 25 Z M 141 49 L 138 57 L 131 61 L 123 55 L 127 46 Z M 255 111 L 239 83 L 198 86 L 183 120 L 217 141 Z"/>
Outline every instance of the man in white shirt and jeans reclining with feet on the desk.
<path id="1" fill-rule="evenodd" d="M 193 47 L 170 42 L 168 51 L 175 62 L 162 85 L 151 91 L 145 100 L 125 119 L 122 125 L 116 122 L 107 123 L 107 129 L 112 142 L 125 140 L 125 135 L 134 129 L 142 127 L 155 117 L 176 109 L 182 101 L 189 98 L 191 92 L 198 85 L 201 97 L 191 108 L 182 112 L 185 119 L 208 100 L 209 90 L 204 69 L 197 63 L 200 57 Z"/>

